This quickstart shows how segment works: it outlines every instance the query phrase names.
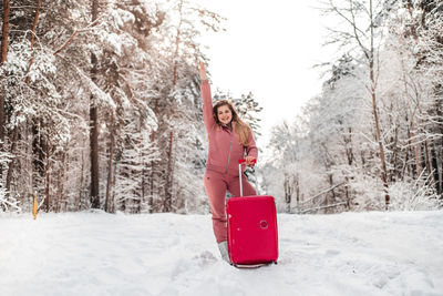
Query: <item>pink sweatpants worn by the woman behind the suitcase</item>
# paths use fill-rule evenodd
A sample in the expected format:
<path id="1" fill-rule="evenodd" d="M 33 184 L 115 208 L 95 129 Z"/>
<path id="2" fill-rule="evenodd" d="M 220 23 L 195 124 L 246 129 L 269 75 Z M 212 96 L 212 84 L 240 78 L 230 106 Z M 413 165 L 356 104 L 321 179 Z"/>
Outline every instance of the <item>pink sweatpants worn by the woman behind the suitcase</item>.
<path id="1" fill-rule="evenodd" d="M 256 195 L 255 188 L 249 184 L 245 175 L 241 175 L 243 195 Z M 227 241 L 226 227 L 226 191 L 233 196 L 240 196 L 240 181 L 238 175 L 229 175 L 207 170 L 205 173 L 205 190 L 209 200 L 210 213 L 213 213 L 213 228 L 217 243 Z"/>

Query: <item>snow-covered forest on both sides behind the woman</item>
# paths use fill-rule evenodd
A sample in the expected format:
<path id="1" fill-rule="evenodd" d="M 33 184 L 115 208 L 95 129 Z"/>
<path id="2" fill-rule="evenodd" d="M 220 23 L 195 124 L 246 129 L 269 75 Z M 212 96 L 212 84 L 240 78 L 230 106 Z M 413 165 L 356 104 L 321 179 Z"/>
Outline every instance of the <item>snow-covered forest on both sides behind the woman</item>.
<path id="1" fill-rule="evenodd" d="M 55 213 L 208 213 L 199 37 L 225 18 L 190 0 L 0 4 L 0 212 L 35 196 Z M 443 2 L 319 7 L 338 20 L 324 40 L 338 58 L 272 127 L 260 192 L 299 214 L 441 208 Z M 226 96 L 259 134 L 254 94 Z"/>

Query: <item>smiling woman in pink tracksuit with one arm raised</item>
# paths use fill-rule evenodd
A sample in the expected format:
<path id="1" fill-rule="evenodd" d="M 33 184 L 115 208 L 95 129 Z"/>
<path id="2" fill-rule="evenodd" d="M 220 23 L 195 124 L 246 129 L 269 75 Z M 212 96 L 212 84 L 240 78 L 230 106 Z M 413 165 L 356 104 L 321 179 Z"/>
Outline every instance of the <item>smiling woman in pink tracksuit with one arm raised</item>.
<path id="1" fill-rule="evenodd" d="M 229 263 L 225 210 L 226 191 L 234 196 L 240 195 L 238 160 L 246 159 L 246 165 L 253 166 L 258 151 L 253 131 L 238 118 L 229 101 L 222 100 L 213 106 L 204 63 L 199 64 L 199 75 L 203 118 L 209 140 L 205 191 L 209 200 L 214 235 L 222 258 Z M 241 183 L 245 196 L 256 195 L 256 191 L 244 174 L 241 174 Z"/>

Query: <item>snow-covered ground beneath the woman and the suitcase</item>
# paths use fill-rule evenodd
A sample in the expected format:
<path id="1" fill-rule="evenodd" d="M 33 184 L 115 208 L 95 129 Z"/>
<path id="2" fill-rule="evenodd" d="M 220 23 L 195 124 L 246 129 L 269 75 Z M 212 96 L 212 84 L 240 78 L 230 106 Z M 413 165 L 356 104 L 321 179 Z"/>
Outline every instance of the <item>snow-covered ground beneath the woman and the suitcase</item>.
<path id="1" fill-rule="evenodd" d="M 443 211 L 278 216 L 278 265 L 224 263 L 208 215 L 0 215 L 0 295 L 443 295 Z"/>

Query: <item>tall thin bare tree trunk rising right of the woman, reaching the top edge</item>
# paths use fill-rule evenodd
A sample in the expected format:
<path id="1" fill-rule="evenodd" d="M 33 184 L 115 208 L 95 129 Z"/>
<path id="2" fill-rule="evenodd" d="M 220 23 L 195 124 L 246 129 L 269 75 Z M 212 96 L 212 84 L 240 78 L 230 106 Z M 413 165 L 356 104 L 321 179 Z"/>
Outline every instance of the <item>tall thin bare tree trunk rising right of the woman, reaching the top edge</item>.
<path id="1" fill-rule="evenodd" d="M 369 75 L 371 80 L 371 98 L 372 98 L 372 113 L 374 115 L 374 123 L 375 123 L 375 140 L 379 143 L 379 151 L 380 151 L 380 162 L 381 162 L 381 180 L 383 181 L 383 186 L 384 186 L 384 205 L 385 208 L 388 210 L 389 207 L 389 194 L 388 194 L 388 171 L 387 171 L 387 163 L 385 163 L 385 157 L 384 157 L 384 147 L 383 143 L 381 141 L 381 132 L 380 132 L 380 120 L 379 120 L 379 114 L 378 114 L 378 108 L 377 108 L 377 98 L 375 98 L 375 78 L 374 78 L 374 45 L 373 45 L 373 39 L 374 39 L 374 33 L 373 33 L 373 16 L 372 16 L 372 0 L 369 1 L 369 13 L 370 13 L 370 19 L 371 19 L 371 49 L 370 49 L 370 57 L 369 57 Z"/>

